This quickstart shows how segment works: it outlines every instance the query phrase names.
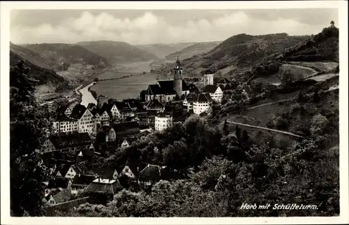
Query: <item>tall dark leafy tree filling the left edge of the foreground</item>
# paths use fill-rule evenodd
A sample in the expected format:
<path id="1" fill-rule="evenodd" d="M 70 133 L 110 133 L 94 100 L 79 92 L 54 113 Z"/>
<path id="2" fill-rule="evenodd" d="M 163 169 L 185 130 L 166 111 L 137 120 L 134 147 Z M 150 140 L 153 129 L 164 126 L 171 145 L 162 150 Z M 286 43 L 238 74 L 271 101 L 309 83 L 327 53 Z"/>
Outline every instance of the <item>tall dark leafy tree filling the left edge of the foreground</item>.
<path id="1" fill-rule="evenodd" d="M 35 150 L 52 127 L 48 108 L 38 106 L 36 81 L 20 61 L 10 68 L 10 208 L 13 216 L 43 215 L 45 167 Z"/>

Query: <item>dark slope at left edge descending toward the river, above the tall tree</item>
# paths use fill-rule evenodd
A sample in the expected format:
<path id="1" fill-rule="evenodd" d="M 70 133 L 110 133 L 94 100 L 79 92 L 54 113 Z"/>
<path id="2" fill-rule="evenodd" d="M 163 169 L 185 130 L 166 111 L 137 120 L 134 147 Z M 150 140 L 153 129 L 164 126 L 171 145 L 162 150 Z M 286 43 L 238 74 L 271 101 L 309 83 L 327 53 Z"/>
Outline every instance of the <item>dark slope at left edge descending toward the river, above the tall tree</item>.
<path id="1" fill-rule="evenodd" d="M 59 85 L 68 85 L 66 80 L 64 80 L 64 78 L 60 75 L 57 75 L 57 73 L 53 70 L 41 67 L 40 65 L 43 64 L 34 64 L 34 59 L 31 56 L 32 55 L 20 56 L 17 54 L 17 52 L 10 50 L 10 66 L 15 66 L 18 61 L 24 60 L 26 66 L 31 69 L 29 74 L 32 75 L 32 78 L 38 80 L 37 85 L 52 85 L 54 87 L 58 87 Z"/>

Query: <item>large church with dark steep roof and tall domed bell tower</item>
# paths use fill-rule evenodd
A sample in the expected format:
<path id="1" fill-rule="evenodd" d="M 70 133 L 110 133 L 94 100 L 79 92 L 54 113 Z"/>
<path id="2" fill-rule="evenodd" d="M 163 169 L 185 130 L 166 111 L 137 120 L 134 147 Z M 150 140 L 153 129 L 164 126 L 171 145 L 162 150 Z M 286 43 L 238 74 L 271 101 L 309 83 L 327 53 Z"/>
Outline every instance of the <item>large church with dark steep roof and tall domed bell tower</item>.
<path id="1" fill-rule="evenodd" d="M 157 99 L 161 102 L 174 101 L 176 95 L 181 98 L 190 92 L 198 92 L 198 88 L 194 84 L 187 84 L 183 79 L 183 68 L 177 57 L 176 66 L 173 69 L 173 80 L 158 80 L 156 85 L 149 85 L 145 93 L 145 101 Z"/>

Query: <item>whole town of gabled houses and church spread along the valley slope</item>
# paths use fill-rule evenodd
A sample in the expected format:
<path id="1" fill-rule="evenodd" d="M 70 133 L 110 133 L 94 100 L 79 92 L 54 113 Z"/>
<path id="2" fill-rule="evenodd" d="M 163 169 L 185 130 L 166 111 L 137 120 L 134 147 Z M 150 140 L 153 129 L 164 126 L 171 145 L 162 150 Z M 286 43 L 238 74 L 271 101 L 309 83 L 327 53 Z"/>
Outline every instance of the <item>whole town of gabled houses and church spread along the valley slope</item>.
<path id="1" fill-rule="evenodd" d="M 122 189 L 119 180 L 124 177 L 137 182 L 161 179 L 163 168 L 158 165 L 139 168 L 125 162 L 123 168 L 88 168 L 86 164 L 95 155 L 105 156 L 107 152 L 128 147 L 138 138 L 168 129 L 173 122 L 184 121 L 193 113 L 210 115 L 212 107 L 221 103 L 223 91 L 232 87 L 227 78 L 214 83 L 214 74 L 206 71 L 200 91 L 182 79 L 184 71 L 179 59 L 173 73 L 173 80 L 158 80 L 149 85 L 140 93 L 142 98 L 110 99 L 103 106 L 89 103 L 85 107 L 77 103 L 57 108 L 52 131 L 36 150 L 43 164 L 50 168 L 50 180 L 45 182 L 45 205 L 61 204 L 80 194 L 102 191 L 112 195 Z M 149 170 L 158 172 L 149 175 Z"/>

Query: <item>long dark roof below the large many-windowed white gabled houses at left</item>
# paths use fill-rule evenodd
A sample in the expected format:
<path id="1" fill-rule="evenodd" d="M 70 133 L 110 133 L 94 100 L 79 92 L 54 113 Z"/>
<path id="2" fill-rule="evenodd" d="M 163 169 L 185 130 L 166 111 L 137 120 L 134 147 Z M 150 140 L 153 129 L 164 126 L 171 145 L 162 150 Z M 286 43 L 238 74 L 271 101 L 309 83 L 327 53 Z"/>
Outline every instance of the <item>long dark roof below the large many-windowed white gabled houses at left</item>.
<path id="1" fill-rule="evenodd" d="M 92 142 L 89 133 L 61 133 L 59 135 L 50 136 L 50 141 L 57 150 L 64 147 L 88 145 Z"/>

